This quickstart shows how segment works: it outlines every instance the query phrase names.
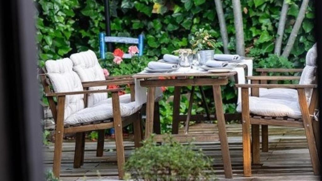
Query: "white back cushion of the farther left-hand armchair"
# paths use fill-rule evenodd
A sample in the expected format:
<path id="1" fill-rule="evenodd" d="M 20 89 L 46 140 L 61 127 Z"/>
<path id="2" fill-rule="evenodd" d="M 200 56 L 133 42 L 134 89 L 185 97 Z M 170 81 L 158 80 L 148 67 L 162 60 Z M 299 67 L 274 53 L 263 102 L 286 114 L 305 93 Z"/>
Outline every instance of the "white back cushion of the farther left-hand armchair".
<path id="1" fill-rule="evenodd" d="M 103 69 L 95 53 L 91 50 L 86 52 L 74 53 L 71 55 L 74 71 L 79 75 L 82 82 L 85 81 L 104 81 Z M 89 90 L 106 89 L 106 86 L 90 87 Z M 90 107 L 101 100 L 107 99 L 107 93 L 89 94 L 87 106 Z"/>

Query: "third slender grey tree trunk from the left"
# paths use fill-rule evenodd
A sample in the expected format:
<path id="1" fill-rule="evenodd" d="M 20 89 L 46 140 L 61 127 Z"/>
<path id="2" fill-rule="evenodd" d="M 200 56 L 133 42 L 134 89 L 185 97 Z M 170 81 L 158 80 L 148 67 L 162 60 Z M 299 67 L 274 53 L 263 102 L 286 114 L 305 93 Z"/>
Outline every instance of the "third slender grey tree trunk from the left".
<path id="1" fill-rule="evenodd" d="M 275 50 L 274 50 L 274 53 L 277 55 L 280 55 L 281 53 L 286 16 L 287 16 L 287 11 L 289 9 L 289 4 L 286 3 L 286 1 L 287 0 L 284 0 L 283 2 L 282 11 L 279 18 L 279 27 L 277 29 L 277 39 L 275 42 Z"/>

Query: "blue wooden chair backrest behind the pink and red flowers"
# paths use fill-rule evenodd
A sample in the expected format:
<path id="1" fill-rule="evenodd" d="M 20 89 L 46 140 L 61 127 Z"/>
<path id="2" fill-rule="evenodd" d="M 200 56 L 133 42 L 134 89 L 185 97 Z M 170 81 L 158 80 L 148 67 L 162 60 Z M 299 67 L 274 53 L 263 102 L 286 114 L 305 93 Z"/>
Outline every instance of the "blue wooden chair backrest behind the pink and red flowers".
<path id="1" fill-rule="evenodd" d="M 105 59 L 105 43 L 129 43 L 137 44 L 139 49 L 139 56 L 143 55 L 143 34 L 138 38 L 105 36 L 105 33 L 99 33 L 99 55 L 101 59 Z M 124 54 L 123 58 L 131 58 L 131 54 Z"/>

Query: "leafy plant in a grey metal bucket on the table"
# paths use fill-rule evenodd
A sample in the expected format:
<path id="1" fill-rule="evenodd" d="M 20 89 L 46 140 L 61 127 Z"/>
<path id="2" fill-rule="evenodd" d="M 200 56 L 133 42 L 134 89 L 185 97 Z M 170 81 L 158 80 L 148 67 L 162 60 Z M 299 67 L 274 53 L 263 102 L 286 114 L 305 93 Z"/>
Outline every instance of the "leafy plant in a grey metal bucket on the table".
<path id="1" fill-rule="evenodd" d="M 222 43 L 211 39 L 212 36 L 204 28 L 196 31 L 190 40 L 192 49 L 197 52 L 197 57 L 200 65 L 208 60 L 213 60 L 214 50 L 222 46 Z"/>

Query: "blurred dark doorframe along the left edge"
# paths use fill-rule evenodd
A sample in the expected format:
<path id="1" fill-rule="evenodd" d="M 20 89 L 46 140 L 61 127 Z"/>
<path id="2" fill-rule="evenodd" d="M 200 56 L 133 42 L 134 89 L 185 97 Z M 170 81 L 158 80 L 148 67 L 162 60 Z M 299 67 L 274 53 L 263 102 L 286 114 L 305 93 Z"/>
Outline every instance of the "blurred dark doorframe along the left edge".
<path id="1" fill-rule="evenodd" d="M 34 8 L 0 1 L 0 180 L 44 180 Z"/>

